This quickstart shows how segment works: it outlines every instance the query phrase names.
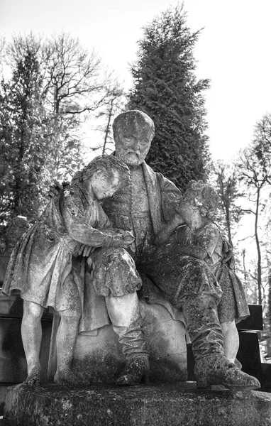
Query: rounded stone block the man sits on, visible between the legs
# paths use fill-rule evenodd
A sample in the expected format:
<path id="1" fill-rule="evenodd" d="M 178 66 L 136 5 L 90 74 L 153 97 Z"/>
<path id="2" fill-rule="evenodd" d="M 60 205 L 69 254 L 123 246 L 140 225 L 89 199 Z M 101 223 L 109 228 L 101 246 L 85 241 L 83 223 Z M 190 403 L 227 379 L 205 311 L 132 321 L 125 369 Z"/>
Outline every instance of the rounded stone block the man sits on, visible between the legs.
<path id="1" fill-rule="evenodd" d="M 140 302 L 143 332 L 150 353 L 150 381 L 187 380 L 187 344 L 184 323 L 173 320 L 170 312 L 158 304 Z M 54 320 L 55 321 L 55 320 Z M 52 329 L 48 377 L 53 380 L 56 368 L 55 336 Z M 80 334 L 74 350 L 73 369 L 90 383 L 113 383 L 126 362 L 118 336 L 111 324 L 91 334 Z"/>

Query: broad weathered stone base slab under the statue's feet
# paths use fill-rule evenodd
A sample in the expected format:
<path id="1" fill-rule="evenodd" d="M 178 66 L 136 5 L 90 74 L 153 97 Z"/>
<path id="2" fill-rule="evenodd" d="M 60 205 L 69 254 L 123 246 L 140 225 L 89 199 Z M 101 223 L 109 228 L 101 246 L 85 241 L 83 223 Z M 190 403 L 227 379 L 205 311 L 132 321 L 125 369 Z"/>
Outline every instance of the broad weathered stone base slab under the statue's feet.
<path id="1" fill-rule="evenodd" d="M 4 418 L 20 426 L 270 426 L 271 394 L 175 385 L 9 388 Z"/>

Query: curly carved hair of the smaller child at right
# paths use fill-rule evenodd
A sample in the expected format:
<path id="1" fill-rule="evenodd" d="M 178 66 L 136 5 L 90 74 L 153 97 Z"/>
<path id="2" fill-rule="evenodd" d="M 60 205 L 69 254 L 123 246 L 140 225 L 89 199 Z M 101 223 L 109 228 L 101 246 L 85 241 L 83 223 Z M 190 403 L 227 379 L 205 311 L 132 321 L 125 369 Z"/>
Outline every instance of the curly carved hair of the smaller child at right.
<path id="1" fill-rule="evenodd" d="M 202 182 L 202 180 L 190 180 L 183 199 L 199 207 L 201 216 L 206 216 L 208 219 L 216 217 L 219 195 L 213 187 Z"/>

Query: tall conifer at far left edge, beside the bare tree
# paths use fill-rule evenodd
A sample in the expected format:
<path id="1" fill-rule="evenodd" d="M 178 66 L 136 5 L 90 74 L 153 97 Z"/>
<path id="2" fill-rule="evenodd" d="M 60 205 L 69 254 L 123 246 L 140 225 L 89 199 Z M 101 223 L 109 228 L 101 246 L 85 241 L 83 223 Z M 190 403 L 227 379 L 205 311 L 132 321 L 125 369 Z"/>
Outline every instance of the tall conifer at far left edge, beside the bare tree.
<path id="1" fill-rule="evenodd" d="M 0 92 L 1 219 L 38 211 L 41 173 L 47 141 L 42 77 L 35 53 L 18 60 L 10 82 Z"/>

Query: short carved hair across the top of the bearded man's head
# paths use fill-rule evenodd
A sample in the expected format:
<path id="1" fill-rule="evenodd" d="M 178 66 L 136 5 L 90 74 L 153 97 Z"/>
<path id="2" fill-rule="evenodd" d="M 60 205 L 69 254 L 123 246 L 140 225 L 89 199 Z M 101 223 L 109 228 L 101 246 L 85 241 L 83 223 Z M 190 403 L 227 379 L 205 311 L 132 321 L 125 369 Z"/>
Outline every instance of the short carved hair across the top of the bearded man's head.
<path id="1" fill-rule="evenodd" d="M 155 124 L 153 120 L 145 114 L 143 111 L 139 111 L 138 109 L 131 109 L 130 111 L 123 112 L 116 116 L 113 123 L 113 133 L 114 138 L 118 135 L 119 131 L 128 131 L 131 129 L 135 129 L 138 126 L 146 127 L 153 132 L 153 136 L 155 134 Z"/>

